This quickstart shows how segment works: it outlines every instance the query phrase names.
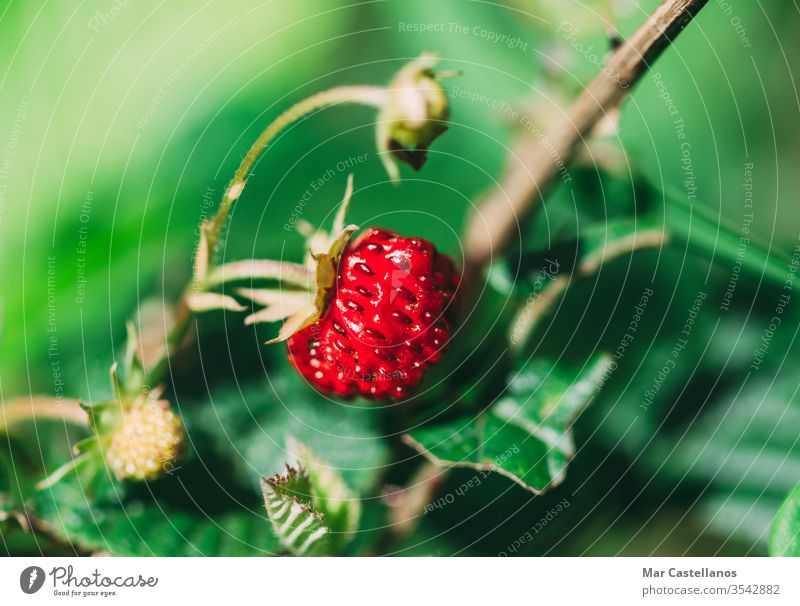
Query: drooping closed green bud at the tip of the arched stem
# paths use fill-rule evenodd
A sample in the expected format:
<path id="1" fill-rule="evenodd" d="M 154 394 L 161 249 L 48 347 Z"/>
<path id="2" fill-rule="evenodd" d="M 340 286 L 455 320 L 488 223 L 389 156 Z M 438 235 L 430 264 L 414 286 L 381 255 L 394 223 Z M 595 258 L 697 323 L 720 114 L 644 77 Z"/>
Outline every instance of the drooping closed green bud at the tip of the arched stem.
<path id="1" fill-rule="evenodd" d="M 447 93 L 433 71 L 437 58 L 425 53 L 401 69 L 389 84 L 389 97 L 378 117 L 378 151 L 392 181 L 394 159 L 422 168 L 428 147 L 447 130 Z"/>

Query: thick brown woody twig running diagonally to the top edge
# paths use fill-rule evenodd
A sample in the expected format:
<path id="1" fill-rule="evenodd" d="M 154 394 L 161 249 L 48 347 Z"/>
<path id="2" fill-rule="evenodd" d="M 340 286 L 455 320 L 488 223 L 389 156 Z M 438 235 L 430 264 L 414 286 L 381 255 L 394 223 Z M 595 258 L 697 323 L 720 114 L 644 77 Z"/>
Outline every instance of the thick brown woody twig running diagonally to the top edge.
<path id="1" fill-rule="evenodd" d="M 465 232 L 467 279 L 509 243 L 516 226 L 542 200 L 579 143 L 618 107 L 642 74 L 675 40 L 708 0 L 664 0 L 647 21 L 609 57 L 605 69 L 543 137 L 526 140 L 506 173 L 469 218 Z"/>

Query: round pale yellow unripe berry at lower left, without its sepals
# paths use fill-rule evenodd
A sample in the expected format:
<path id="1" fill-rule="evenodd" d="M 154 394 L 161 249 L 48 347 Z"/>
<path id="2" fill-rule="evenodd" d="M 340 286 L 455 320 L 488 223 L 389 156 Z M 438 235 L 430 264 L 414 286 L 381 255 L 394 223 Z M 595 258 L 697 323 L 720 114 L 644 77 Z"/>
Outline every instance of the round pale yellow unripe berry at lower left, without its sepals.
<path id="1" fill-rule="evenodd" d="M 181 454 L 183 426 L 165 400 L 135 402 L 111 435 L 106 461 L 120 480 L 154 480 Z"/>

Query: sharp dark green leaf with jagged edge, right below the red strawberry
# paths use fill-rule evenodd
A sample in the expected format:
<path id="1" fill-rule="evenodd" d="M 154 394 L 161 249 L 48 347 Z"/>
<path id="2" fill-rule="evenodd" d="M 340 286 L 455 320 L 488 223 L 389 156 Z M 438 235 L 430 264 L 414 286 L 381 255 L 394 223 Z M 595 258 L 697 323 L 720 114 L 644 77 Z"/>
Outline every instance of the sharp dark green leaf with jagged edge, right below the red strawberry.
<path id="1" fill-rule="evenodd" d="M 564 480 L 575 452 L 571 425 L 597 394 L 610 363 L 598 355 L 573 371 L 530 362 L 512 377 L 506 395 L 477 417 L 403 439 L 438 465 L 497 472 L 540 493 Z"/>

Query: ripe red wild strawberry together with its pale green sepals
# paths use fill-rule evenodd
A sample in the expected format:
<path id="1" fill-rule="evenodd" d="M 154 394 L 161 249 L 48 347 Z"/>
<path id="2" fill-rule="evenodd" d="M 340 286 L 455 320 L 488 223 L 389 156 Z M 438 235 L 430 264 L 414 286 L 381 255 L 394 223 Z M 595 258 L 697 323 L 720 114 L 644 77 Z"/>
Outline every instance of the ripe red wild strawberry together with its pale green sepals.
<path id="1" fill-rule="evenodd" d="M 459 274 L 430 242 L 344 225 L 352 180 L 330 235 L 303 227 L 306 265 L 248 261 L 223 266 L 231 278 L 268 277 L 281 289 L 240 289 L 264 305 L 248 324 L 285 319 L 289 360 L 318 390 L 349 398 L 400 399 L 437 362 L 452 333 Z"/>

